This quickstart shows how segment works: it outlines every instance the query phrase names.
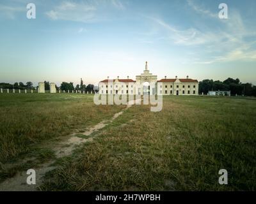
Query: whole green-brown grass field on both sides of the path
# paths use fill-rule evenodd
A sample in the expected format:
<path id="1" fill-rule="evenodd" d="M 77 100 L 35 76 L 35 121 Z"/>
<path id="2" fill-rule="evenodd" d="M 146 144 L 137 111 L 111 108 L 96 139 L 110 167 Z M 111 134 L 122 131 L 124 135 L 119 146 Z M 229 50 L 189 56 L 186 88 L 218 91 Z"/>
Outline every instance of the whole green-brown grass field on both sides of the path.
<path id="1" fill-rule="evenodd" d="M 161 112 L 124 108 L 96 106 L 92 95 L 0 94 L 0 180 L 31 168 L 6 168 L 21 158 L 55 158 L 45 141 L 58 142 L 123 110 L 93 140 L 56 158 L 58 168 L 47 172 L 40 189 L 255 191 L 256 99 L 166 96 Z M 221 186 L 223 168 L 228 185 Z"/>

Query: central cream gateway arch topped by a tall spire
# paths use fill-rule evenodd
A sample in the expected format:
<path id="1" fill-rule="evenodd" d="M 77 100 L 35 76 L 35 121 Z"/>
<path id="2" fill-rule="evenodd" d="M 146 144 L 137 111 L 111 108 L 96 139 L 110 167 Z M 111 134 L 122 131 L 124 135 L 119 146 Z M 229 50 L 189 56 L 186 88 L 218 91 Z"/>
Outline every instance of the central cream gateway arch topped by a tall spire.
<path id="1" fill-rule="evenodd" d="M 157 75 L 152 75 L 148 70 L 148 62 L 146 62 L 145 70 L 141 75 L 136 76 L 136 94 L 150 94 L 154 95 L 157 92 Z"/>

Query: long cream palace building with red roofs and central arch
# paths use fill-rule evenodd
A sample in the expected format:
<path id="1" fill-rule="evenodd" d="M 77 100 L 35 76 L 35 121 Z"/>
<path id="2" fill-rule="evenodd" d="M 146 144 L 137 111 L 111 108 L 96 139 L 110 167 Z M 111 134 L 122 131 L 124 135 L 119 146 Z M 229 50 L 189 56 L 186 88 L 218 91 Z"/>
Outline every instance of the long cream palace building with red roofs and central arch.
<path id="1" fill-rule="evenodd" d="M 162 78 L 157 80 L 156 75 L 148 70 L 146 62 L 145 70 L 136 80 L 106 79 L 99 82 L 99 94 L 160 94 L 160 95 L 198 95 L 198 80 L 189 78 Z"/>

